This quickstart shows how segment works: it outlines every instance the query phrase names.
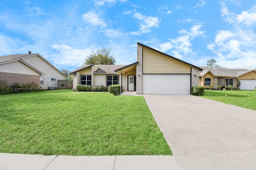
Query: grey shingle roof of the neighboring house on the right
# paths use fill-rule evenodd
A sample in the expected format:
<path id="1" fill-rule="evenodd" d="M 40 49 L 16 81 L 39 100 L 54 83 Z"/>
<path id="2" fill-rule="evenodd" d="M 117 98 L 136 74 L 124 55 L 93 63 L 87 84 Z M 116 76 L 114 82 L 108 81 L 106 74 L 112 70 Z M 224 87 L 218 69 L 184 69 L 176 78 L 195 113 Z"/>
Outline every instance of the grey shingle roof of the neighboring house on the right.
<path id="1" fill-rule="evenodd" d="M 202 72 L 199 72 L 198 76 L 204 76 L 208 71 L 210 71 L 217 77 L 239 77 L 253 71 L 246 69 L 210 68 L 207 66 L 200 66 L 200 68 L 203 68 L 203 70 Z"/>

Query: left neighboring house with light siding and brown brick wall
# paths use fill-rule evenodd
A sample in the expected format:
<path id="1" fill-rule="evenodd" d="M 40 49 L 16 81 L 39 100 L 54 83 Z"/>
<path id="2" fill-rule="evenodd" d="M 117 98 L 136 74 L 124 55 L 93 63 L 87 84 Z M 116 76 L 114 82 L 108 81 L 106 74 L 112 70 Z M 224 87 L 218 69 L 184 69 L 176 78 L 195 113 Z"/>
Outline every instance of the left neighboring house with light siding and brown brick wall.
<path id="1" fill-rule="evenodd" d="M 0 80 L 14 83 L 36 83 L 38 88 L 56 89 L 58 80 L 66 76 L 39 54 L 6 55 L 0 57 Z"/>

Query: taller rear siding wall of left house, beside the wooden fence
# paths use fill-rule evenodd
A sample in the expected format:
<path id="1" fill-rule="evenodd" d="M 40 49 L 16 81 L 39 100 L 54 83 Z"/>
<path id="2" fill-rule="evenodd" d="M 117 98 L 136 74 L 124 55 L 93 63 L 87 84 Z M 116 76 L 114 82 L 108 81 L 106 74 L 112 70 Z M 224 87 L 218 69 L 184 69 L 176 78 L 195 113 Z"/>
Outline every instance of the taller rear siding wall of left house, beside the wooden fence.
<path id="1" fill-rule="evenodd" d="M 58 87 L 58 80 L 65 80 L 65 76 L 52 65 L 47 63 L 38 55 L 24 57 L 22 60 L 40 72 L 44 73 L 44 84 L 39 84 L 42 89 L 48 89 L 48 87 Z M 56 81 L 51 81 L 51 78 L 56 78 Z"/>

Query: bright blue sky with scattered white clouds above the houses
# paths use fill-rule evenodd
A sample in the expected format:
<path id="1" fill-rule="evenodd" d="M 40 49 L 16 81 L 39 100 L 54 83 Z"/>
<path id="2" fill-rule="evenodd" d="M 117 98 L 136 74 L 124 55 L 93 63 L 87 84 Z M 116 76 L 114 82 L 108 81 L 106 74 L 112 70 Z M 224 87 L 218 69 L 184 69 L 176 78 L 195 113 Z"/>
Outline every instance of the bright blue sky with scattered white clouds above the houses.
<path id="1" fill-rule="evenodd" d="M 74 70 L 104 47 L 134 63 L 140 42 L 196 66 L 256 68 L 255 0 L 0 2 L 0 56 L 32 51 Z"/>

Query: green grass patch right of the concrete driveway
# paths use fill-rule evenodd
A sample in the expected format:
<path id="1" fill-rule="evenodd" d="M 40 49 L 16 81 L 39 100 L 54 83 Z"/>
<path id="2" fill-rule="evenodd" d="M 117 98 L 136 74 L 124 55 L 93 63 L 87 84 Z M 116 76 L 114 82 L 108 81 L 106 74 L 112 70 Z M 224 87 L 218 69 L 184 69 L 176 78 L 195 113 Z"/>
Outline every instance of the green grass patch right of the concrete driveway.
<path id="1" fill-rule="evenodd" d="M 204 90 L 200 97 L 256 110 L 255 90 Z"/>

